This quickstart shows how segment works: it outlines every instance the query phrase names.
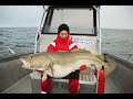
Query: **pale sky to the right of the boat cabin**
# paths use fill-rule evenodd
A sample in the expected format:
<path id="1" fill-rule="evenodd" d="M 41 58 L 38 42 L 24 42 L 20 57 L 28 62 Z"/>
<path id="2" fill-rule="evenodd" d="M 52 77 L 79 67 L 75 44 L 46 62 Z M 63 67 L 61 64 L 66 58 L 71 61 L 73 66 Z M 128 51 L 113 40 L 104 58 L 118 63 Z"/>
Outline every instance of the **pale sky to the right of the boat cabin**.
<path id="1" fill-rule="evenodd" d="M 133 29 L 133 6 L 102 6 L 101 26 Z"/>

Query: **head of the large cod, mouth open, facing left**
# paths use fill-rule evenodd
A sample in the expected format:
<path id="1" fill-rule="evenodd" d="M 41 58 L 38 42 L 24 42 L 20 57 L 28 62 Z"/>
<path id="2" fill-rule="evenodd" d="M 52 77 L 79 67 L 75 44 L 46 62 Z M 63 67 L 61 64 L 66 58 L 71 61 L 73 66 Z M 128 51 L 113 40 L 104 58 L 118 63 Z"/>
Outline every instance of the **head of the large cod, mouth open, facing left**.
<path id="1" fill-rule="evenodd" d="M 40 69 L 45 70 L 49 68 L 49 57 L 41 54 L 30 54 L 20 57 L 23 63 L 22 67 L 28 69 Z"/>

